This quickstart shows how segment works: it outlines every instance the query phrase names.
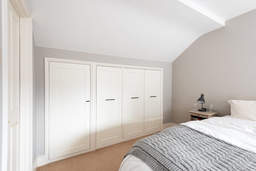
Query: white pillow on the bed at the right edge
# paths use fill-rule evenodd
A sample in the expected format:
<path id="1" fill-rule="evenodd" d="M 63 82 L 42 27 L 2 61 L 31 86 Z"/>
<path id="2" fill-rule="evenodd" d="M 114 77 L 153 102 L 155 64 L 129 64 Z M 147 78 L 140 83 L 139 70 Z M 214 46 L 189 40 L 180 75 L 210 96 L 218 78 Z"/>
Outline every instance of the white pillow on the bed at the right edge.
<path id="1" fill-rule="evenodd" d="M 256 101 L 229 100 L 231 117 L 256 121 Z"/>

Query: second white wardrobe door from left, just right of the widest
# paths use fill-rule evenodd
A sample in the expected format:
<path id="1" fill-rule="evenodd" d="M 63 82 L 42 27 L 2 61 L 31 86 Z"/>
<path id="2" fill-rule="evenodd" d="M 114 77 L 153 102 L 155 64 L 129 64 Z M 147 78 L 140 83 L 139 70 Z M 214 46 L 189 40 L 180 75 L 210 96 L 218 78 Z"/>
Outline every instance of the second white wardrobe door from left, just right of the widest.
<path id="1" fill-rule="evenodd" d="M 96 146 L 122 139 L 122 68 L 97 66 Z"/>

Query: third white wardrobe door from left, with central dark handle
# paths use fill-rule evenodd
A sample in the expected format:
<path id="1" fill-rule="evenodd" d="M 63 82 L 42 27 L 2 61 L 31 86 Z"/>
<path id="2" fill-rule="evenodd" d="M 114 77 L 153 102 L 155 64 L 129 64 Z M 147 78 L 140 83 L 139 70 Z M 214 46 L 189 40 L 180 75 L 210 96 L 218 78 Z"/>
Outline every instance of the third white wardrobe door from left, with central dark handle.
<path id="1" fill-rule="evenodd" d="M 124 138 L 144 133 L 144 70 L 124 69 Z"/>

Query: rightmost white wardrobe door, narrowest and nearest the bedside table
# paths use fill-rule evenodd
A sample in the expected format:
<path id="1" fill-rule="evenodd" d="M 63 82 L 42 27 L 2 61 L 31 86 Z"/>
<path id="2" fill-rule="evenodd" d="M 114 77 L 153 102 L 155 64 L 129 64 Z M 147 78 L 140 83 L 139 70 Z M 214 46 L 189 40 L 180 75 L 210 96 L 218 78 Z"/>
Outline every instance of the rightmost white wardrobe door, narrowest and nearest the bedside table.
<path id="1" fill-rule="evenodd" d="M 161 71 L 145 70 L 145 133 L 161 129 Z"/>

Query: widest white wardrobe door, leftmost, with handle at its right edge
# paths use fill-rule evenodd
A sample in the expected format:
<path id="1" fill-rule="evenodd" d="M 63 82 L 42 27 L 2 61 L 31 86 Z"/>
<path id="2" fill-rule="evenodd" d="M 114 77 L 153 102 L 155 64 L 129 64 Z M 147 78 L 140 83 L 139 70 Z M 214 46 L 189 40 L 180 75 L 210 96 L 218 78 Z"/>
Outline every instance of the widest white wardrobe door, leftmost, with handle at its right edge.
<path id="1" fill-rule="evenodd" d="M 90 149 L 90 65 L 49 63 L 49 159 Z"/>

